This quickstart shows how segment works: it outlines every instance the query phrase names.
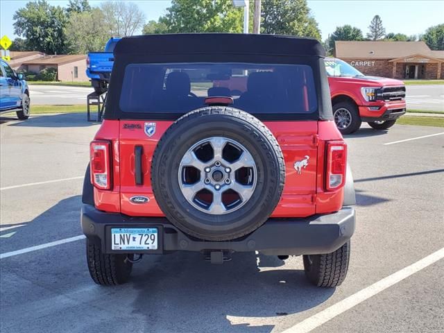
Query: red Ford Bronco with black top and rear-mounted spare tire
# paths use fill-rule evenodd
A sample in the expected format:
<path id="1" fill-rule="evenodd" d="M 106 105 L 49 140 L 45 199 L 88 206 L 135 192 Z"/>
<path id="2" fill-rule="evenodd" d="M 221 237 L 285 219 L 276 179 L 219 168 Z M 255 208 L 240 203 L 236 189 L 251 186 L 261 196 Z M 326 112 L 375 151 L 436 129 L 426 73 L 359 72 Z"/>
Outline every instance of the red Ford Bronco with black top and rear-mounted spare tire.
<path id="1" fill-rule="evenodd" d="M 83 187 L 92 280 L 126 282 L 142 255 L 259 251 L 341 284 L 355 190 L 324 57 L 296 37 L 123 38 Z"/>

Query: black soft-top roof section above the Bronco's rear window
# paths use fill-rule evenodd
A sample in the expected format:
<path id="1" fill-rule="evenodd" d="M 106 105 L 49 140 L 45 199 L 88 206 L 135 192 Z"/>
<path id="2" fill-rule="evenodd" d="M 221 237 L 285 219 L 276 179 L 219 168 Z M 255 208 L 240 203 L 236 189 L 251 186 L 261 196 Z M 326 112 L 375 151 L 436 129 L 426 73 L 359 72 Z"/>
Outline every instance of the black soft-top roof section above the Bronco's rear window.
<path id="1" fill-rule="evenodd" d="M 125 37 L 114 49 L 114 56 L 117 57 L 201 53 L 325 57 L 323 46 L 313 38 L 234 33 L 180 33 Z"/>

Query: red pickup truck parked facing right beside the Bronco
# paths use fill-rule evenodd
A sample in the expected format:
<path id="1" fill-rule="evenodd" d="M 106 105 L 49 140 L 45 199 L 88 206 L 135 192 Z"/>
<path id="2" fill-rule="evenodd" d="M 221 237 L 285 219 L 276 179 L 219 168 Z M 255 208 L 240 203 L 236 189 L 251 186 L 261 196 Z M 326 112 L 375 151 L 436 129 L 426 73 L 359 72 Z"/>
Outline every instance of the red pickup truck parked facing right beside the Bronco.
<path id="1" fill-rule="evenodd" d="M 342 134 L 356 132 L 362 121 L 386 130 L 406 111 L 405 86 L 400 80 L 364 76 L 347 62 L 325 59 L 334 121 Z"/>

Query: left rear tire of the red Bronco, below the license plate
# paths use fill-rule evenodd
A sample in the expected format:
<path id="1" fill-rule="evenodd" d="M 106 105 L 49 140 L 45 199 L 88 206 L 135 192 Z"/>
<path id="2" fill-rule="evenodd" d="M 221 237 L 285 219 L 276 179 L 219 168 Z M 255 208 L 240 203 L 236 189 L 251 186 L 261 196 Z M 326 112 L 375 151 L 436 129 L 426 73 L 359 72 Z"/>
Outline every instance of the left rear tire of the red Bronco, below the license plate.
<path id="1" fill-rule="evenodd" d="M 126 260 L 127 255 L 102 253 L 100 246 L 86 240 L 86 258 L 89 274 L 96 284 L 115 286 L 128 281 L 133 264 Z M 130 259 L 133 255 L 128 255 Z"/>

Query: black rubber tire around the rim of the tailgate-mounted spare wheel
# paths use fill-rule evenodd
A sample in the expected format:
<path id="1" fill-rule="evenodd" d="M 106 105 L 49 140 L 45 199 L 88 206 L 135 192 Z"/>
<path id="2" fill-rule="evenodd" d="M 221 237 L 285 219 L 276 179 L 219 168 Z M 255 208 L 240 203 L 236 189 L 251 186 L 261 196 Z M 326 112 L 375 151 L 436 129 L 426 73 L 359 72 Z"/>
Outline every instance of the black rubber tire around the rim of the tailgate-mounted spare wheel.
<path id="1" fill-rule="evenodd" d="M 246 119 L 232 114 L 194 116 L 180 119 L 178 126 L 171 133 L 165 133 L 157 145 L 151 172 L 157 203 L 171 223 L 201 239 L 229 240 L 253 232 L 273 212 L 282 194 L 282 165 L 276 157 L 275 146 Z M 209 137 L 226 137 L 239 142 L 256 163 L 257 182 L 253 196 L 239 210 L 227 214 L 207 214 L 196 209 L 182 195 L 178 183 L 182 156 L 196 142 Z M 282 155 L 280 150 L 277 153 Z"/>

